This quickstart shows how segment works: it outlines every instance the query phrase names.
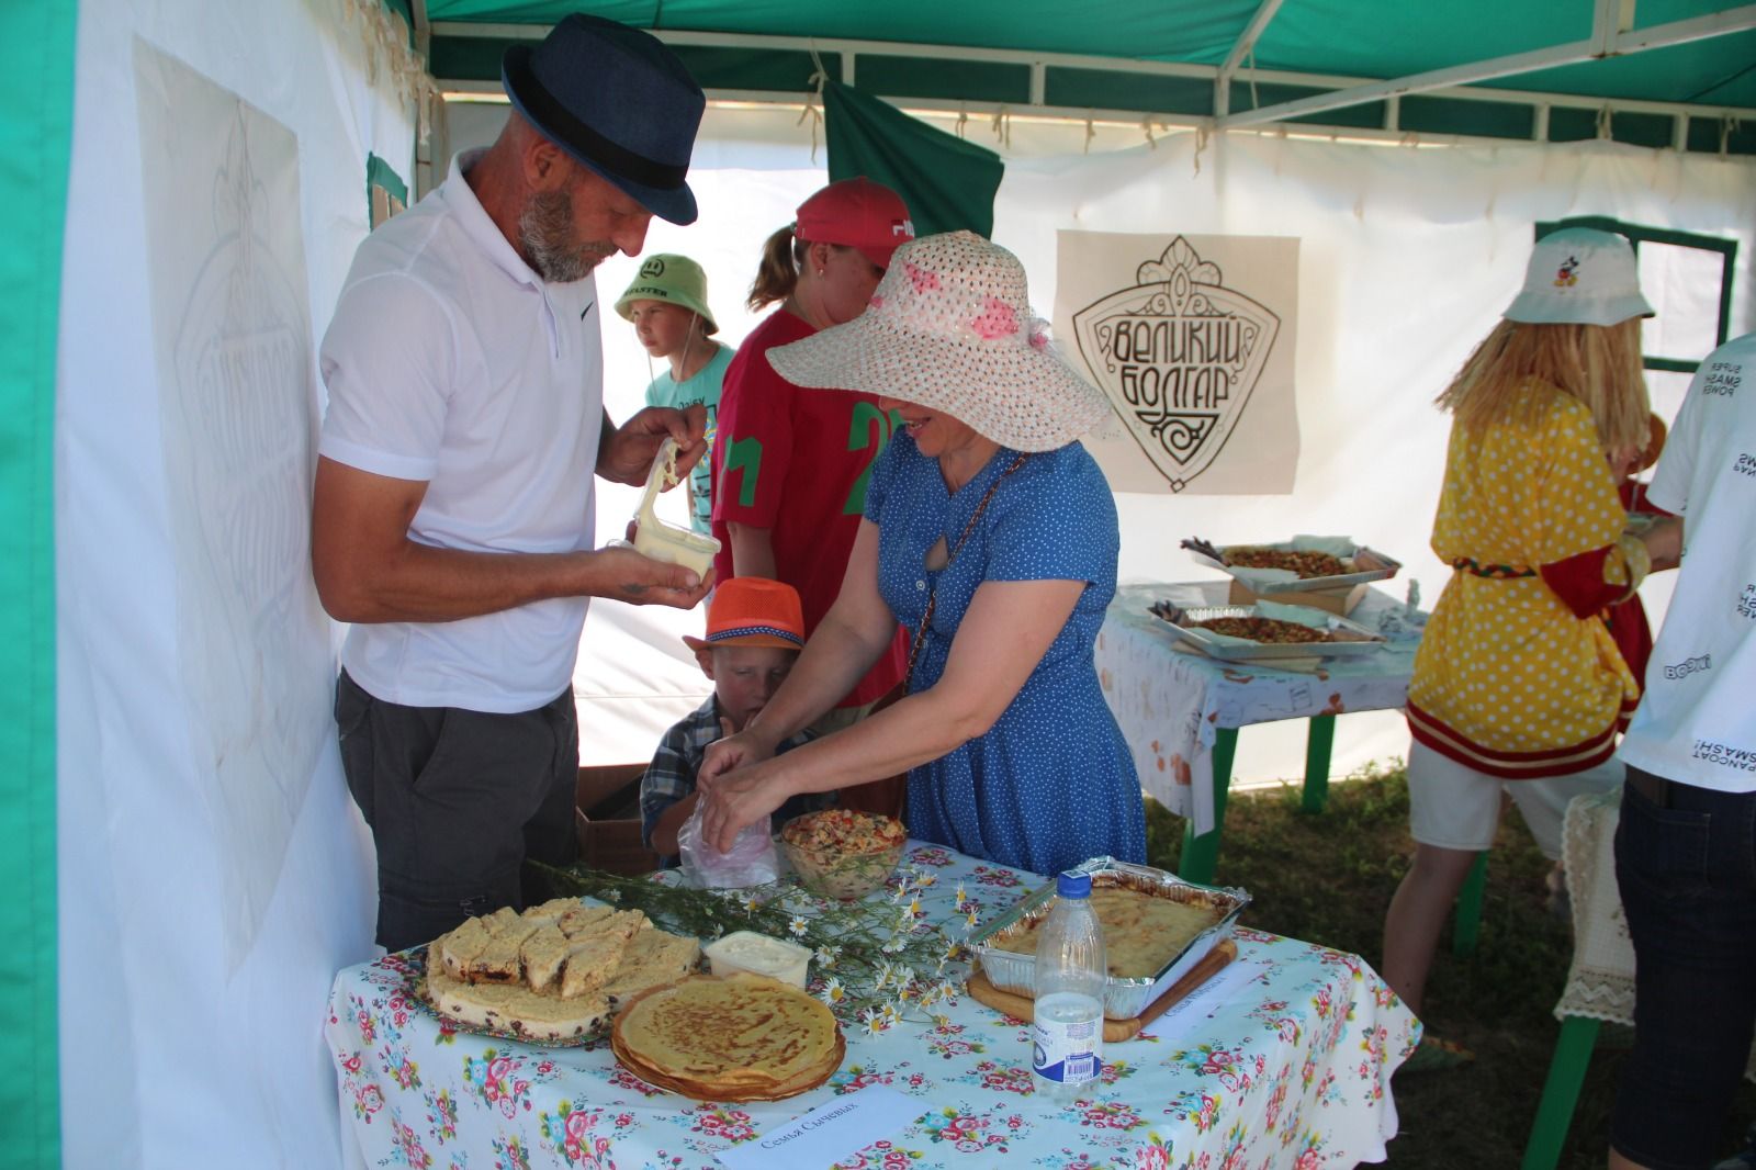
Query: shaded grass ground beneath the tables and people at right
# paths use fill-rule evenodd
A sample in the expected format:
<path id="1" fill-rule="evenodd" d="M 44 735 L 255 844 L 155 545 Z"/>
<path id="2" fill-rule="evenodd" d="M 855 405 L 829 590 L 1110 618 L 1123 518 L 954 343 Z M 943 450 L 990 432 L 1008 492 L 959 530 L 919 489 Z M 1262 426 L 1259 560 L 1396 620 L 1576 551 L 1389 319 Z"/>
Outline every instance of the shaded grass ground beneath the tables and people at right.
<path id="1" fill-rule="evenodd" d="M 1147 856 L 1175 868 L 1184 822 L 1147 805 Z M 1380 959 L 1384 910 L 1414 854 L 1401 769 L 1329 787 L 1319 815 L 1299 810 L 1296 785 L 1234 792 L 1226 808 L 1219 880 L 1250 891 L 1245 922 Z M 1473 1049 L 1456 1070 L 1398 1075 L 1401 1133 L 1389 1166 L 1512 1170 L 1524 1156 L 1559 1022 L 1551 1014 L 1566 980 L 1572 933 L 1547 910 L 1547 859 L 1522 820 L 1501 819 L 1489 857 L 1480 943 L 1473 956 L 1442 950 L 1428 984 L 1428 1026 Z M 1449 931 L 1447 931 L 1449 942 Z M 1608 1151 L 1616 1079 L 1631 1033 L 1600 1029 L 1561 1170 L 1600 1170 Z M 1726 1121 L 1724 1151 L 1738 1149 L 1756 1117 L 1756 1087 L 1742 1086 Z"/>

